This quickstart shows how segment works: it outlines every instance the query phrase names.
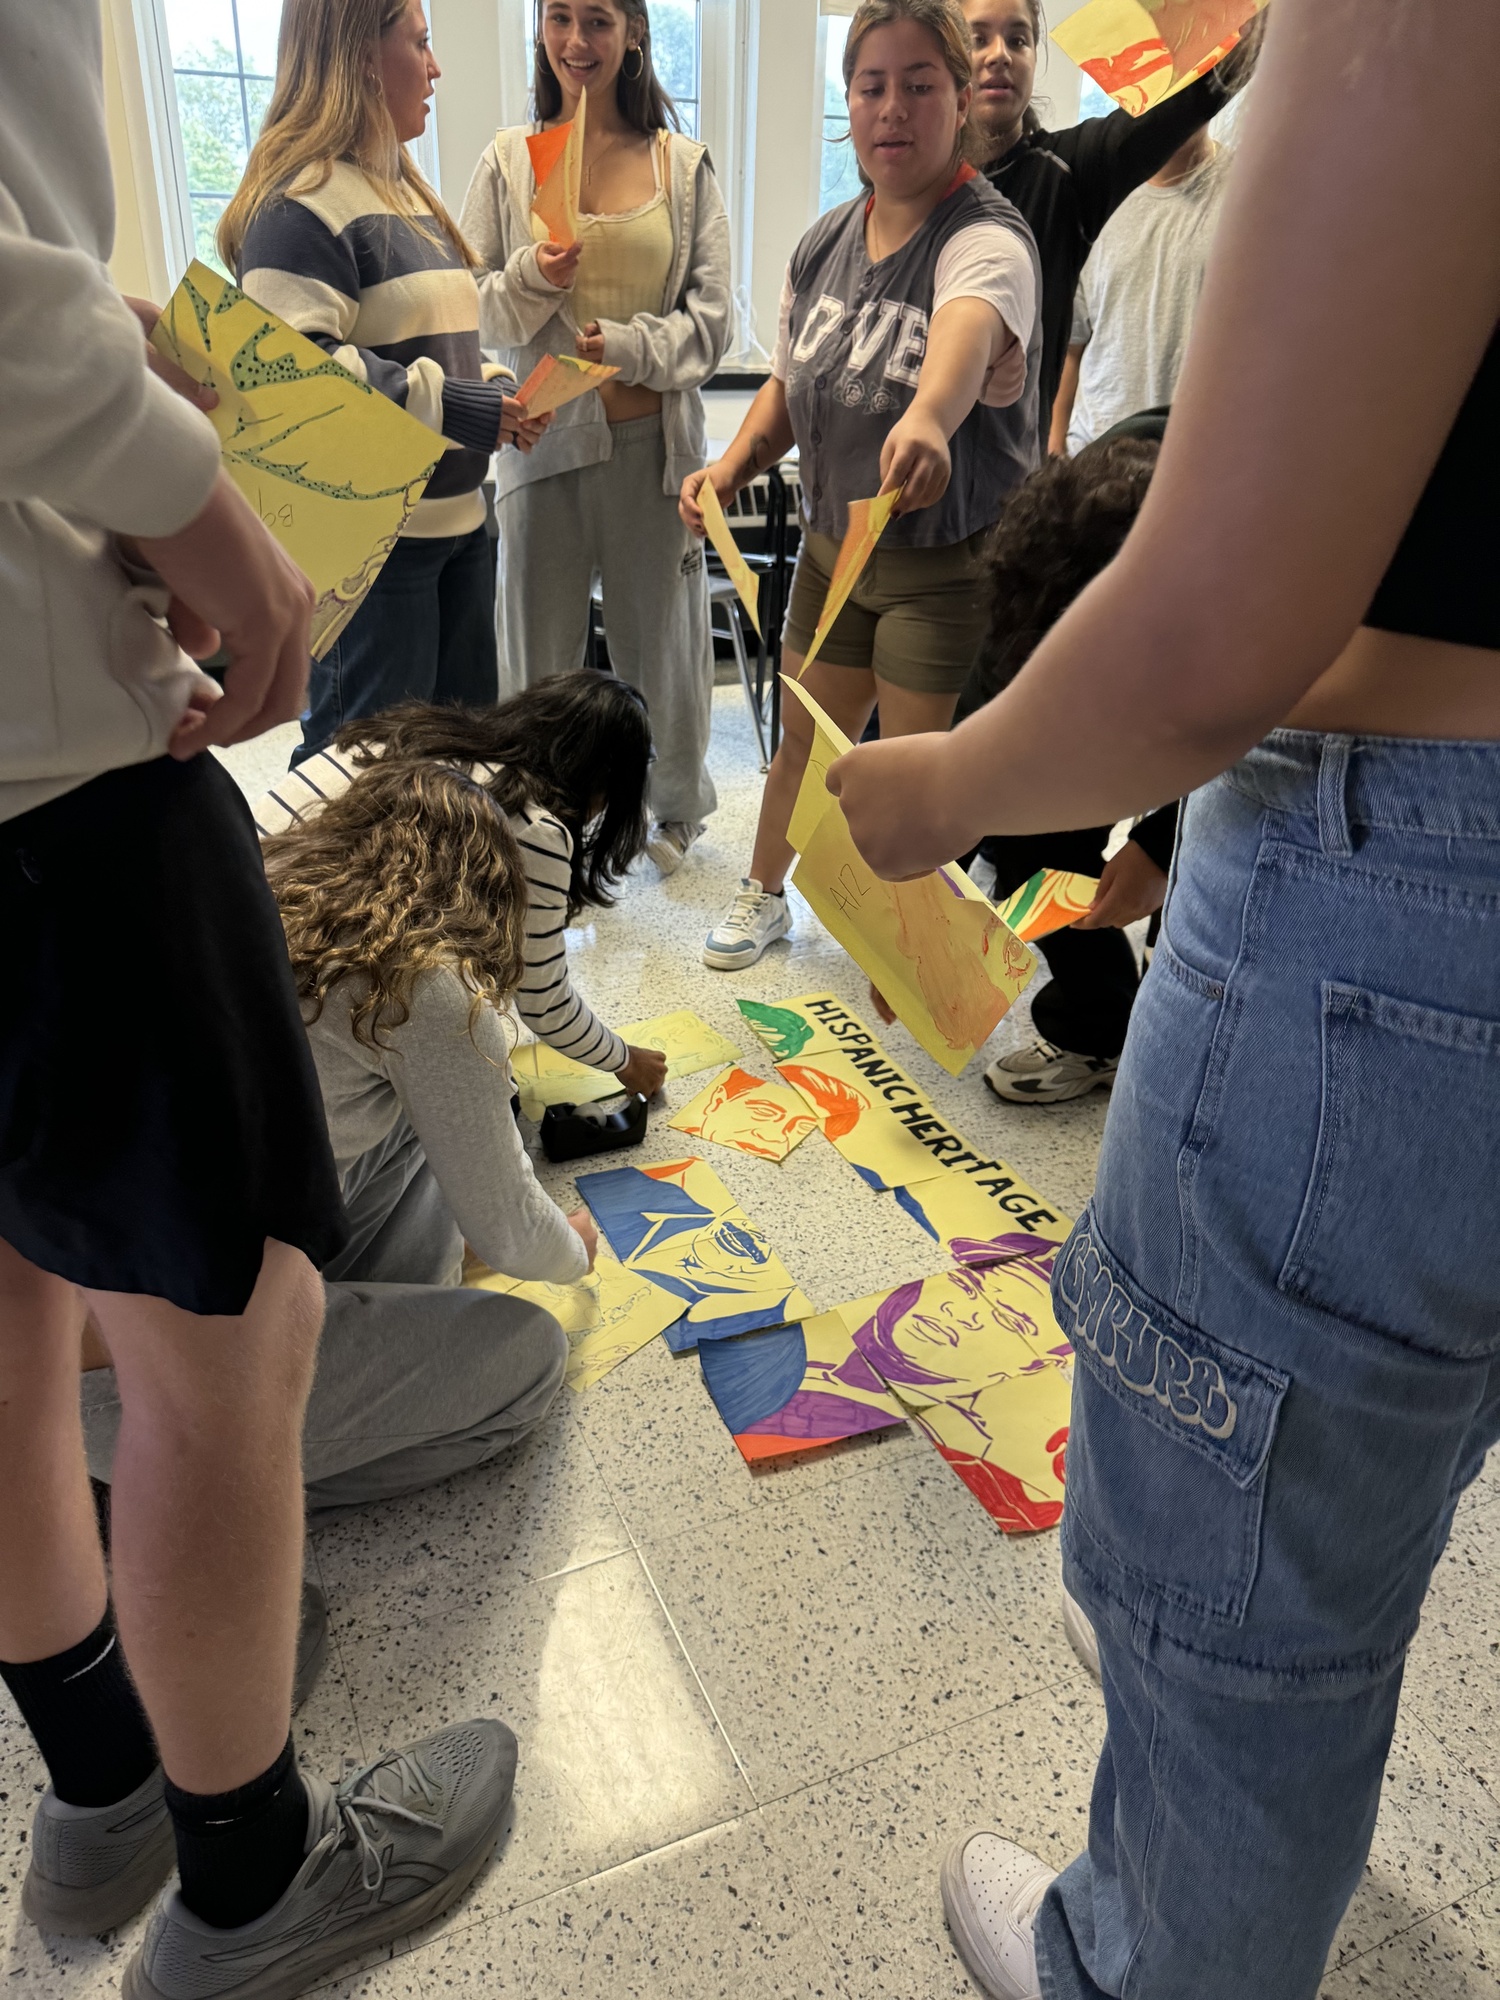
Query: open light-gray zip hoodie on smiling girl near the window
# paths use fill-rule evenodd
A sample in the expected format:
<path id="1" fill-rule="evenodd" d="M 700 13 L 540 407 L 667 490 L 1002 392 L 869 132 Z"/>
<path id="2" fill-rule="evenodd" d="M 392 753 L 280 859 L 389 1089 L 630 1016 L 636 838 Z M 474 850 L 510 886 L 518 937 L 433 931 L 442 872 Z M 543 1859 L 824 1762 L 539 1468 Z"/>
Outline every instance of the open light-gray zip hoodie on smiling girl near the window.
<path id="1" fill-rule="evenodd" d="M 480 264 L 480 340 L 524 382 L 544 354 L 572 354 L 578 324 L 568 292 L 548 284 L 532 242 L 536 180 L 526 134 L 496 132 L 464 196 L 460 228 Z M 672 272 L 660 314 L 638 312 L 628 326 L 604 322 L 604 360 L 622 382 L 662 394 L 666 432 L 664 490 L 676 494 L 708 462 L 700 386 L 730 340 L 730 224 L 708 148 L 672 134 Z M 610 426 L 598 396 L 578 396 L 552 418 L 534 452 L 500 452 L 504 496 L 554 472 L 596 466 L 612 456 Z"/>

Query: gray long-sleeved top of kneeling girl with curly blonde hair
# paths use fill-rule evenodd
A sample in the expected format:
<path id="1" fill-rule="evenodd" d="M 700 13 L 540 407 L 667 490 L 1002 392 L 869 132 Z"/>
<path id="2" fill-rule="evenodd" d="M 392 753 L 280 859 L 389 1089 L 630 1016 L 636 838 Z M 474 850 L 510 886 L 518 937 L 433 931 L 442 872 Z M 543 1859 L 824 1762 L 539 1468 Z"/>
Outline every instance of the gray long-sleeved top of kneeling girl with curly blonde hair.
<path id="1" fill-rule="evenodd" d="M 426 972 L 412 1018 L 382 1028 L 382 1050 L 354 1040 L 352 980 L 308 1024 L 340 1176 L 404 1116 L 438 1176 L 464 1242 L 510 1278 L 570 1284 L 588 1268 L 582 1238 L 542 1192 L 510 1110 L 510 1048 L 500 1016 L 478 1010 L 456 972 Z"/>

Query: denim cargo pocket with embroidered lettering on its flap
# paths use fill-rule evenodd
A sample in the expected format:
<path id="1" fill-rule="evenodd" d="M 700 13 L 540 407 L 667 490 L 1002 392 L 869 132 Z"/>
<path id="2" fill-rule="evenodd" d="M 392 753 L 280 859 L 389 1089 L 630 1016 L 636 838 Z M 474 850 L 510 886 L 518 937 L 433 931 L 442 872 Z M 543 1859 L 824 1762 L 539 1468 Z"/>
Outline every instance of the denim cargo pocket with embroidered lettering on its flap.
<path id="1" fill-rule="evenodd" d="M 1132 1608 L 1152 1592 L 1240 1624 L 1288 1376 L 1132 1284 L 1090 1214 L 1058 1256 L 1052 1304 L 1076 1358 L 1062 1520 L 1070 1558 Z"/>

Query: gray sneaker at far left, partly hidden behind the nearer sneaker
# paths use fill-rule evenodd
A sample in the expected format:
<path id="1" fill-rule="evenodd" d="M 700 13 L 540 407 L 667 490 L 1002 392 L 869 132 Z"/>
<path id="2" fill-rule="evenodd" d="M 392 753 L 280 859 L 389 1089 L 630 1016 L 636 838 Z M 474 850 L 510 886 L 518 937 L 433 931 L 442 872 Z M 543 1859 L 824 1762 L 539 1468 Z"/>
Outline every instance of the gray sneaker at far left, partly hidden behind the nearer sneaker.
<path id="1" fill-rule="evenodd" d="M 176 1858 L 160 1764 L 118 1806 L 64 1806 L 48 1786 L 32 1820 L 20 1906 L 38 1930 L 96 1938 L 128 1924 Z"/>

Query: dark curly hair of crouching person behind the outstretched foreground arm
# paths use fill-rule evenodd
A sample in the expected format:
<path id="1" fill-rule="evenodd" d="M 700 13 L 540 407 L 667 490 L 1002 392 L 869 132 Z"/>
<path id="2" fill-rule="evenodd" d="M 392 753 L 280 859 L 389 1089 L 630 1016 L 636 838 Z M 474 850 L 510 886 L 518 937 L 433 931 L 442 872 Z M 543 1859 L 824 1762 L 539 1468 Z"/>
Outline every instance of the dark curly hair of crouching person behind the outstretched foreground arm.
<path id="1" fill-rule="evenodd" d="M 1158 452 L 1146 438 L 1100 438 L 1076 458 L 1048 458 L 1016 488 L 990 540 L 990 630 L 956 720 L 1008 688 L 1072 600 L 1114 562 Z"/>

